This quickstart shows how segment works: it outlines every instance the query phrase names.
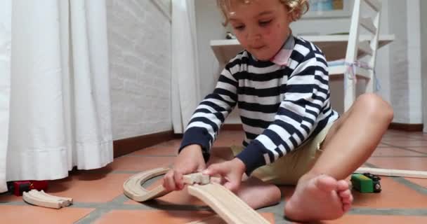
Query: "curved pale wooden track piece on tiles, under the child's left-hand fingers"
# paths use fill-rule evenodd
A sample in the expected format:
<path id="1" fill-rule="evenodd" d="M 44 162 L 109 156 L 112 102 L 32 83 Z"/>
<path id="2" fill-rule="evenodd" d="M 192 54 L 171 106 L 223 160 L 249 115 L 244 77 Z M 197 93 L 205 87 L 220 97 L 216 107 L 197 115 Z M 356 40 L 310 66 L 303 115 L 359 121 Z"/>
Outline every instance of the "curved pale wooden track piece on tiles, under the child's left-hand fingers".
<path id="1" fill-rule="evenodd" d="M 146 172 L 140 172 L 127 179 L 123 184 L 124 195 L 136 202 L 145 202 L 156 197 L 162 197 L 169 193 L 162 185 L 157 186 L 152 190 L 143 188 L 145 181 L 152 179 L 155 176 L 166 174 L 169 168 L 150 169 Z"/>

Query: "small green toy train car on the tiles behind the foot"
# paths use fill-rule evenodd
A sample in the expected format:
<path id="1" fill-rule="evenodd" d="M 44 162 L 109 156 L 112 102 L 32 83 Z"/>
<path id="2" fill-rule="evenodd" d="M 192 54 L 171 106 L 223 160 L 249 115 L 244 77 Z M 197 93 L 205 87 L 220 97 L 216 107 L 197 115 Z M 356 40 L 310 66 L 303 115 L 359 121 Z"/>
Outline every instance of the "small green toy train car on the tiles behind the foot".
<path id="1" fill-rule="evenodd" d="M 380 193 L 381 192 L 381 183 L 379 182 L 381 178 L 373 174 L 364 173 L 364 174 L 352 174 L 351 175 L 351 184 L 353 188 L 360 193 Z"/>

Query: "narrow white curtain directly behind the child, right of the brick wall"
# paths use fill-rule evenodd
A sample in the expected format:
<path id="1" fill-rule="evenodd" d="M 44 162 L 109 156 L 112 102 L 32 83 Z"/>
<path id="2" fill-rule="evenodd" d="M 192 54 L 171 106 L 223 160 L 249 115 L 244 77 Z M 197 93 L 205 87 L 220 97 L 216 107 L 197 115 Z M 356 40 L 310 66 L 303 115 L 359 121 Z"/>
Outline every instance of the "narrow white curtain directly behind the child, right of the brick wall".
<path id="1" fill-rule="evenodd" d="M 199 103 L 195 0 L 172 0 L 172 124 L 183 133 Z"/>

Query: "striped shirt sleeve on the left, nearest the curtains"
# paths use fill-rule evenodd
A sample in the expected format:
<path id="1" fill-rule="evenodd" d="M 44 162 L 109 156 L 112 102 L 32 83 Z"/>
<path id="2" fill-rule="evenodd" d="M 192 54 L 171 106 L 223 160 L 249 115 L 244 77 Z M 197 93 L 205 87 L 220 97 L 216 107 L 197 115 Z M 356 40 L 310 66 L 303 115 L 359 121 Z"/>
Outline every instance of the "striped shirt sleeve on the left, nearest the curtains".
<path id="1" fill-rule="evenodd" d="M 185 130 L 179 152 L 185 146 L 198 144 L 202 146 L 205 160 L 209 158 L 209 150 L 219 128 L 237 104 L 238 82 L 232 73 L 239 70 L 238 60 L 232 60 L 225 66 L 213 93 L 208 94 L 197 106 Z"/>

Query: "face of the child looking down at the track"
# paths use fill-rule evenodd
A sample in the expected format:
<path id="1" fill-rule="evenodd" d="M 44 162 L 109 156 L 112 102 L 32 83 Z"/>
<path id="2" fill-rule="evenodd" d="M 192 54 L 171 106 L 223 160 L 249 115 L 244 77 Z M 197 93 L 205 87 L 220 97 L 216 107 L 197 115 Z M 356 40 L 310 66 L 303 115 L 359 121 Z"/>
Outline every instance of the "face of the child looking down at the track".
<path id="1" fill-rule="evenodd" d="M 257 59 L 274 57 L 289 36 L 291 14 L 279 0 L 230 0 L 230 11 L 237 39 Z"/>

